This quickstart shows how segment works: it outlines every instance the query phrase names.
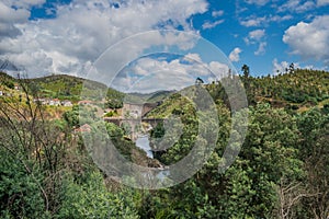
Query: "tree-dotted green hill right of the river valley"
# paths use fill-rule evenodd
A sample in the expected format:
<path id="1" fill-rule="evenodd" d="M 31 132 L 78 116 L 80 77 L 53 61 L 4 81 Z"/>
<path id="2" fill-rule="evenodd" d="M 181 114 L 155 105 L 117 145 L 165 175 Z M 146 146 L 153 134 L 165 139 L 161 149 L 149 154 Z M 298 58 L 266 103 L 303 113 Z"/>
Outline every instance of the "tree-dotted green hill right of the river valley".
<path id="1" fill-rule="evenodd" d="M 274 77 L 237 77 L 245 85 L 249 105 L 270 103 L 273 107 L 292 111 L 307 111 L 311 106 L 329 105 L 329 72 L 326 71 L 296 69 L 294 72 Z M 223 101 L 229 107 L 228 97 L 220 82 L 214 81 L 203 87 L 215 102 Z M 148 115 L 166 117 L 174 108 L 182 107 L 182 99 L 171 95 Z"/>

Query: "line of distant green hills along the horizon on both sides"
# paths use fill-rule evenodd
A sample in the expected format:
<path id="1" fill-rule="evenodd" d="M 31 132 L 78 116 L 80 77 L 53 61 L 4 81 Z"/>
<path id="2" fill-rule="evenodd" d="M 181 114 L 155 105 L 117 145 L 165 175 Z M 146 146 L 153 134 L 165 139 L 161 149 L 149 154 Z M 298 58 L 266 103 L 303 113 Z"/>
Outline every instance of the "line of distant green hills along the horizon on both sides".
<path id="1" fill-rule="evenodd" d="M 2 65 L 10 67 L 10 62 Z M 12 67 L 14 69 L 14 67 Z M 320 70 L 296 69 L 291 73 L 266 77 L 240 77 L 245 84 L 249 104 L 268 102 L 275 107 L 286 107 L 292 110 L 303 110 L 310 106 L 324 106 L 329 104 L 329 72 Z M 82 100 L 81 91 L 83 84 L 89 84 L 87 92 L 90 96 L 98 96 L 99 91 L 93 90 L 93 85 L 106 89 L 105 84 L 90 81 L 83 78 L 67 74 L 52 74 L 47 77 L 23 79 L 37 89 L 42 97 L 56 97 L 59 100 L 70 100 L 78 102 Z M 0 71 L 0 82 L 5 82 L 13 87 L 18 79 Z M 86 83 L 87 82 L 87 83 Z M 220 82 L 203 84 L 213 99 L 226 99 L 225 90 Z M 123 103 L 158 103 L 168 101 L 177 91 L 157 91 L 152 93 L 122 93 L 114 89 L 109 89 L 106 99 L 107 107 L 121 108 Z M 226 100 L 227 101 L 227 100 Z M 224 100 L 225 102 L 225 100 Z M 229 105 L 229 103 L 227 103 Z M 170 104 L 167 103 L 169 106 Z M 161 106 L 159 106 L 161 107 Z M 166 110 L 162 110 L 166 111 Z"/>

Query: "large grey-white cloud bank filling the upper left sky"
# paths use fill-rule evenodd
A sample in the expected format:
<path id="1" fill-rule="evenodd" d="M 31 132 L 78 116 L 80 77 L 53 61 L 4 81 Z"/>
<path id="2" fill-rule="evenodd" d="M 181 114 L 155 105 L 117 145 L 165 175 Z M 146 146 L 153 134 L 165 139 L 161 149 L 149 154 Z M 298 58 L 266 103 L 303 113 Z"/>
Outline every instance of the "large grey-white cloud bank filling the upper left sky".
<path id="1" fill-rule="evenodd" d="M 207 10 L 205 0 L 129 0 L 115 5 L 105 0 L 98 3 L 75 0 L 68 5 L 57 5 L 55 19 L 29 21 L 31 7 L 44 3 L 44 0 L 3 2 L 7 3 L 0 3 L 0 59 L 9 59 L 16 65 L 22 65 L 19 62 L 22 61 L 31 74 L 47 71 L 75 74 L 109 46 L 133 34 L 160 27 L 174 30 L 178 26 L 193 31 L 189 19 Z M 2 12 L 14 16 L 10 19 L 11 23 L 4 21 L 7 16 Z M 11 35 L 2 37 L 1 33 Z M 156 38 L 145 39 L 146 43 L 160 45 L 162 41 L 163 45 L 191 47 L 184 36 L 152 36 Z M 144 48 L 145 43 L 137 42 L 134 47 L 121 50 L 116 56 L 124 57 Z M 27 60 L 27 54 L 34 61 Z M 36 64 L 43 65 L 36 68 Z"/>

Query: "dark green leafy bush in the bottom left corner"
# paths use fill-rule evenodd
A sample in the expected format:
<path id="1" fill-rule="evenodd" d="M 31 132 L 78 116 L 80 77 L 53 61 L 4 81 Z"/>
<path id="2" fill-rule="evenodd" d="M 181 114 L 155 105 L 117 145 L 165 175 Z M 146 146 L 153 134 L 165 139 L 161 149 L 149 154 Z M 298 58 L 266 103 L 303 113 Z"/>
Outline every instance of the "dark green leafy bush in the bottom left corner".
<path id="1" fill-rule="evenodd" d="M 14 154 L 0 148 L 0 217 L 46 218 L 39 184 L 43 176 L 36 170 L 27 172 Z"/>

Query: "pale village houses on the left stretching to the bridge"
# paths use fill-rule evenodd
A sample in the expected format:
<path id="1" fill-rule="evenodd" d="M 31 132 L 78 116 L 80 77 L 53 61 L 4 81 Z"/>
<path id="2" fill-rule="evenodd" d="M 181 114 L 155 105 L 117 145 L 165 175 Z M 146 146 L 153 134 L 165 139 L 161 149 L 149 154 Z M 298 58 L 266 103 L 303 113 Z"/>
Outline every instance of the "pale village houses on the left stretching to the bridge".
<path id="1" fill-rule="evenodd" d="M 19 97 L 22 100 L 24 89 L 19 83 L 13 83 L 11 89 L 0 87 L 0 97 Z M 138 137 L 138 131 L 141 124 L 146 126 L 145 130 L 151 129 L 159 123 L 159 119 L 147 118 L 146 115 L 159 106 L 161 102 L 156 103 L 123 103 L 121 108 L 110 108 L 105 107 L 106 100 L 91 101 L 91 100 L 80 100 L 80 101 L 70 101 L 70 100 L 60 100 L 58 97 L 34 97 L 33 103 L 43 106 L 50 107 L 66 107 L 64 111 L 78 105 L 79 107 L 95 107 L 98 108 L 98 116 L 102 117 L 106 123 L 113 123 L 117 126 L 129 127 L 129 130 L 126 130 L 129 138 L 136 140 Z M 73 134 L 79 132 L 90 132 L 91 126 L 89 124 L 81 124 L 78 127 L 73 128 Z"/>

